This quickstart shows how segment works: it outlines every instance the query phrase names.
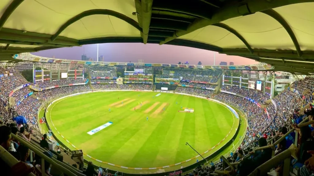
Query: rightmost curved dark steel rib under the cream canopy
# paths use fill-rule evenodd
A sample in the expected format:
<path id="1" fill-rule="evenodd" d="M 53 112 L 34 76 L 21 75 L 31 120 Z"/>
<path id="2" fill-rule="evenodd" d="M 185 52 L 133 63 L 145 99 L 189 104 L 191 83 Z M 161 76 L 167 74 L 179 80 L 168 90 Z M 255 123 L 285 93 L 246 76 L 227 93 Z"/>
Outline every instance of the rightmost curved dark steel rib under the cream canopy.
<path id="1" fill-rule="evenodd" d="M 293 33 L 291 27 L 286 22 L 286 20 L 284 20 L 284 18 L 281 15 L 279 15 L 279 13 L 274 11 L 273 9 L 268 9 L 268 10 L 264 10 L 264 11 L 261 11 L 261 12 L 265 13 L 268 16 L 271 16 L 272 18 L 274 18 L 276 21 L 278 21 L 284 27 L 284 29 L 289 34 L 293 44 L 295 45 L 295 49 L 296 49 L 296 52 L 298 53 L 298 56 L 301 57 L 302 56 L 302 51 L 300 49 L 299 42 L 296 39 L 295 34 Z"/>

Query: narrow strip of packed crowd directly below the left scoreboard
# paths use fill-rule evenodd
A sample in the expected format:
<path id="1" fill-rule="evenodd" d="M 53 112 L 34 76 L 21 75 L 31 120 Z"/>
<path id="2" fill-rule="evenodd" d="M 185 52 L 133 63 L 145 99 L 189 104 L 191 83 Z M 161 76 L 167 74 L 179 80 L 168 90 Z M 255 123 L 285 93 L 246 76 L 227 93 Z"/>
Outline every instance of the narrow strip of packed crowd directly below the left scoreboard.
<path id="1" fill-rule="evenodd" d="M 52 80 L 51 82 L 49 80 L 46 81 L 38 81 L 36 82 L 35 86 L 39 87 L 39 88 L 46 88 L 46 87 L 51 87 L 51 86 L 55 86 L 55 85 L 69 85 L 69 84 L 78 84 L 78 83 L 85 83 L 86 79 L 60 79 L 58 80 Z"/>

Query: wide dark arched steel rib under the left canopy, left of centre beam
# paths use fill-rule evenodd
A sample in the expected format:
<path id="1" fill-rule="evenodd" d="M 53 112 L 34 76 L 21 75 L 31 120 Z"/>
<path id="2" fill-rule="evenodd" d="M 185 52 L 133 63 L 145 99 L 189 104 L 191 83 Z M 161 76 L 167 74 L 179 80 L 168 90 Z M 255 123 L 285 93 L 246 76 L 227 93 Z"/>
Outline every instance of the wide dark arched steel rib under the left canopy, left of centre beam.
<path id="1" fill-rule="evenodd" d="M 76 21 L 90 16 L 90 15 L 110 15 L 110 16 L 114 16 L 116 18 L 122 19 L 123 21 L 131 24 L 133 27 L 137 28 L 140 32 L 142 32 L 142 28 L 138 25 L 138 22 L 136 22 L 135 20 L 133 20 L 132 18 L 127 17 L 126 15 L 123 15 L 122 13 L 118 13 L 116 11 L 112 11 L 112 10 L 107 10 L 107 9 L 93 9 L 93 10 L 87 10 L 84 11 L 76 16 L 74 16 L 73 18 L 69 19 L 67 22 L 65 22 L 56 32 L 56 34 L 53 34 L 51 37 L 51 41 L 54 41 L 59 34 L 62 33 L 62 31 L 64 29 L 66 29 L 69 25 L 75 23 Z M 49 41 L 48 41 L 49 42 Z"/>

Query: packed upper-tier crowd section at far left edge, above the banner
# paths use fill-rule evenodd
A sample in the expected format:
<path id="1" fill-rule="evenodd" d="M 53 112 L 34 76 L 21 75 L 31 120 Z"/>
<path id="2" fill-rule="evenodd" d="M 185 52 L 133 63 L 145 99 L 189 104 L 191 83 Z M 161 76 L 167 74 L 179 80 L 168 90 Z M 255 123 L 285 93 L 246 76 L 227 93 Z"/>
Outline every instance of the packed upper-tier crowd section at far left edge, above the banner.
<path id="1" fill-rule="evenodd" d="M 7 104 L 10 92 L 19 85 L 28 83 L 28 81 L 18 70 L 11 67 L 6 69 L 1 67 L 0 75 L 0 99 Z"/>

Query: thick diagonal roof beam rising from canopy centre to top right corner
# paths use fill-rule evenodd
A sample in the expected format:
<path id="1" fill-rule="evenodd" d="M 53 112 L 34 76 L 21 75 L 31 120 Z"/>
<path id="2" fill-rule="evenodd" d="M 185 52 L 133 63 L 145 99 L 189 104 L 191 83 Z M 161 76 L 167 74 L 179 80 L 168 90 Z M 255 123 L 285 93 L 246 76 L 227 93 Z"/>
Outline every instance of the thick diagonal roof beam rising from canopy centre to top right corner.
<path id="1" fill-rule="evenodd" d="M 165 44 L 173 39 L 176 39 L 182 35 L 191 33 L 197 29 L 212 25 L 214 23 L 219 23 L 224 20 L 235 18 L 239 16 L 249 15 L 252 13 L 281 7 L 284 5 L 295 4 L 295 3 L 305 3 L 313 2 L 313 0 L 281 0 L 281 1 L 266 1 L 266 0 L 247 0 L 245 3 L 242 1 L 235 1 L 234 3 L 228 3 L 225 7 L 219 8 L 216 13 L 214 13 L 211 19 L 197 19 L 186 31 L 176 31 L 176 33 L 165 41 L 160 42 L 160 44 Z"/>

